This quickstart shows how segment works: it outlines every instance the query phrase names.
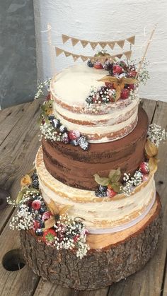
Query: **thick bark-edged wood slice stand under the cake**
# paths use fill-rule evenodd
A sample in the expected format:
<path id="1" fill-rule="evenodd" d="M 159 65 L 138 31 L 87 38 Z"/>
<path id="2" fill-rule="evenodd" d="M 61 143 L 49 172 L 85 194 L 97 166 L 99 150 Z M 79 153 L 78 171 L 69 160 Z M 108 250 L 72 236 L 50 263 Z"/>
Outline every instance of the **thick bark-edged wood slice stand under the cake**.
<path id="1" fill-rule="evenodd" d="M 25 261 L 45 280 L 76 290 L 93 290 L 118 282 L 139 271 L 154 254 L 161 234 L 161 202 L 127 230 L 107 235 L 88 235 L 91 249 L 83 259 L 74 251 L 57 250 L 21 231 Z"/>

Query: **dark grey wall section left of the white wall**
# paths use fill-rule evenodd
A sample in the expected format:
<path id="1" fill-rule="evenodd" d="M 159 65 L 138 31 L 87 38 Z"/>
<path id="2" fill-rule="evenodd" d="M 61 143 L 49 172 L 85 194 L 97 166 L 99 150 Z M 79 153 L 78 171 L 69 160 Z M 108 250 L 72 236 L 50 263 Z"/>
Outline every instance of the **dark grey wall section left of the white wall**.
<path id="1" fill-rule="evenodd" d="M 4 109 L 33 100 L 36 92 L 33 0 L 1 1 L 0 35 L 0 106 Z"/>

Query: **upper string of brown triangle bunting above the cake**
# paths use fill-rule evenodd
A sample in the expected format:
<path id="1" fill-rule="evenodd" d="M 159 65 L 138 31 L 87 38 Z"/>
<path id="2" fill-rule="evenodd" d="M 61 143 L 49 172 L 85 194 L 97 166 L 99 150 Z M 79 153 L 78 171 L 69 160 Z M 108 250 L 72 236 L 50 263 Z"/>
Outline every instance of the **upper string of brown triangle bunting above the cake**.
<path id="1" fill-rule="evenodd" d="M 91 45 L 91 48 L 94 50 L 96 49 L 96 47 L 98 45 L 100 45 L 100 47 L 102 47 L 103 49 L 105 48 L 105 46 L 109 46 L 110 49 L 114 49 L 115 45 L 118 45 L 121 49 L 124 47 L 125 45 L 125 41 L 129 42 L 131 45 L 134 45 L 135 42 L 135 35 L 122 39 L 122 40 L 114 40 L 114 41 L 88 41 L 88 40 L 81 40 L 78 38 L 74 38 L 74 37 L 70 37 L 68 35 L 64 35 L 62 34 L 62 42 L 66 43 L 68 40 L 71 40 L 71 43 L 73 45 L 73 47 L 75 45 L 77 45 L 77 43 L 81 42 L 81 45 L 85 48 L 86 45 Z"/>

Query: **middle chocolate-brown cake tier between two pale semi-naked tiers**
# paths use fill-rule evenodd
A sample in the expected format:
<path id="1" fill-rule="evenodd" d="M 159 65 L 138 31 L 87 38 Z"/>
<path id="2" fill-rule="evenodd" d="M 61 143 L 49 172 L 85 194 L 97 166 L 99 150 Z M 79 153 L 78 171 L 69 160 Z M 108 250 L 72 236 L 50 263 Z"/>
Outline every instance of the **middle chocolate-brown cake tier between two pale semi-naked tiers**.
<path id="1" fill-rule="evenodd" d="M 144 160 L 144 145 L 148 129 L 148 117 L 139 107 L 138 123 L 129 135 L 109 143 L 91 143 L 88 150 L 79 146 L 42 139 L 43 159 L 47 171 L 70 187 L 94 190 L 97 184 L 93 175 L 108 176 L 111 169 L 120 167 L 133 173 Z"/>

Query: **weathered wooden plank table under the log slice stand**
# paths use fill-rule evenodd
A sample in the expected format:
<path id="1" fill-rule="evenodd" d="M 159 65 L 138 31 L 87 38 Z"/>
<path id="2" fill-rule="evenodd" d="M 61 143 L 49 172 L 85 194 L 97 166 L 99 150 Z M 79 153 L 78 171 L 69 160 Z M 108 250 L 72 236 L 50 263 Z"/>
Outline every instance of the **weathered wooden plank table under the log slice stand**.
<path id="1" fill-rule="evenodd" d="M 0 188 L 7 189 L 13 198 L 19 189 L 21 175 L 33 166 L 35 153 L 40 146 L 39 128 L 36 124 L 40 101 L 10 107 L 0 112 Z M 149 122 L 167 126 L 167 103 L 144 100 L 143 107 Z M 167 295 L 167 142 L 159 148 L 159 170 L 156 172 L 156 189 L 163 206 L 163 235 L 159 249 L 142 271 L 126 280 L 95 291 L 75 291 L 45 282 L 24 266 L 18 271 L 7 271 L 2 262 L 4 255 L 20 247 L 19 235 L 10 230 L 15 211 L 7 206 L 0 211 L 0 295 L 1 296 L 165 296 Z M 1 201 L 0 201 L 1 204 Z M 8 256 L 6 257 L 8 259 Z M 7 260 L 6 259 L 6 260 Z M 10 264 L 10 263 L 9 263 Z"/>

